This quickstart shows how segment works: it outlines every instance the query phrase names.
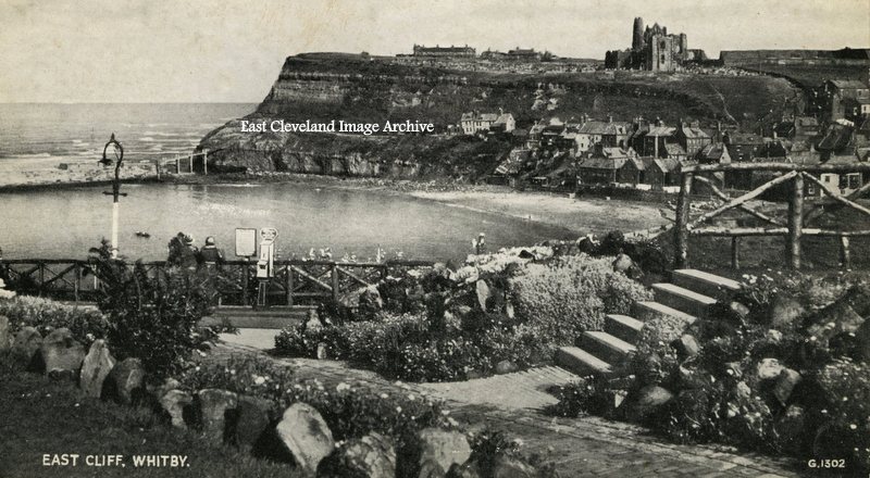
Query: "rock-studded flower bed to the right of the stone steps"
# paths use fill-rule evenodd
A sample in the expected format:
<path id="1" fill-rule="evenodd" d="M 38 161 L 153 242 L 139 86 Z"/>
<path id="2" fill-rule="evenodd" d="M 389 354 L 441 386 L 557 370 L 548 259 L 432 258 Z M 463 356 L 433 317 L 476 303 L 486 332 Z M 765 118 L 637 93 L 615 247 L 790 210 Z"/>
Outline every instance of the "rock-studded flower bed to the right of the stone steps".
<path id="1" fill-rule="evenodd" d="M 870 470 L 870 286 L 859 276 L 746 276 L 685 330 L 645 325 L 623 378 L 564 387 L 552 412 L 632 419 L 679 442 L 723 442 Z"/>

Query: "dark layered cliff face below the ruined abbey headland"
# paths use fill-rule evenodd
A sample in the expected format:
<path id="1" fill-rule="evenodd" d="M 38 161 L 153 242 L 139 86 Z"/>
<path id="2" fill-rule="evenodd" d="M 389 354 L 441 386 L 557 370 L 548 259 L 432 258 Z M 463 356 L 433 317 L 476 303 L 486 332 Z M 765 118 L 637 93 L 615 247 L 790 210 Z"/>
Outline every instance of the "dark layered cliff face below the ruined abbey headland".
<path id="1" fill-rule="evenodd" d="M 735 98 L 749 91 L 753 98 L 726 104 L 720 91 L 733 92 Z M 511 146 L 446 135 L 448 125 L 458 124 L 463 112 L 504 109 L 513 114 L 520 128 L 540 118 L 566 121 L 583 114 L 624 121 L 643 115 L 670 124 L 697 118 L 711 125 L 729 117 L 767 114 L 792 93 L 787 81 L 766 77 L 492 73 L 312 53 L 288 58 L 265 99 L 245 120 L 381 125 L 408 120 L 434 124 L 434 134 L 241 133 L 240 122 L 233 121 L 210 133 L 199 148 L 209 149 L 212 171 L 470 179 L 490 173 Z"/>

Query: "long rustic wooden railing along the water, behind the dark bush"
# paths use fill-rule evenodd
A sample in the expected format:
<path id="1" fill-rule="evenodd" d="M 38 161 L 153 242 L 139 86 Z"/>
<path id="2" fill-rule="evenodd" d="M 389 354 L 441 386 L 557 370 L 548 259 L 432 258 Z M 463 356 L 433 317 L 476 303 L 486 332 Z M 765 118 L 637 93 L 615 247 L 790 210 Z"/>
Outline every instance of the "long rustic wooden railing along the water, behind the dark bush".
<path id="1" fill-rule="evenodd" d="M 389 274 L 432 264 L 430 261 L 275 261 L 275 274 L 266 280 L 268 303 L 284 306 L 337 303 L 345 294 L 377 284 Z M 144 265 L 152 277 L 166 277 L 170 271 L 164 261 Z M 219 305 L 256 302 L 259 284 L 254 266 L 254 262 L 228 261 L 220 273 L 209 276 L 217 292 Z M 9 289 L 18 293 L 62 300 L 94 300 L 100 288 L 91 264 L 79 260 L 3 260 L 0 261 L 0 277 Z"/>

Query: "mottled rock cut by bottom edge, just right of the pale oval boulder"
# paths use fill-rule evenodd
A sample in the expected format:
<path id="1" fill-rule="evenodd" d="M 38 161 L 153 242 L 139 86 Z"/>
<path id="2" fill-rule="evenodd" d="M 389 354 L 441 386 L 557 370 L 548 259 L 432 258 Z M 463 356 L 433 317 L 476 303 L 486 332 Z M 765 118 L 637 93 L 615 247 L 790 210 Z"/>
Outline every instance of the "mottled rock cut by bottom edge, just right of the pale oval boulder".
<path id="1" fill-rule="evenodd" d="M 350 439 L 318 466 L 318 478 L 394 478 L 396 452 L 381 433 Z"/>

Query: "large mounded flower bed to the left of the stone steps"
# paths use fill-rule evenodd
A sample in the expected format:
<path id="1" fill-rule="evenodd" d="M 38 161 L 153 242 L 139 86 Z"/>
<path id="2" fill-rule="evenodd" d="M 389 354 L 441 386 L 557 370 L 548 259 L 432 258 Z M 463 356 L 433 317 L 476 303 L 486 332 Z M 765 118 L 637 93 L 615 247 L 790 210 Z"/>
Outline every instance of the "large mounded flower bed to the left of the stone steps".
<path id="1" fill-rule="evenodd" d="M 320 352 L 413 381 L 465 379 L 547 362 L 557 347 L 599 330 L 649 292 L 613 271 L 612 257 L 554 257 L 551 248 L 470 256 L 388 277 L 336 325 L 309 320 L 275 339 L 285 354 Z"/>

